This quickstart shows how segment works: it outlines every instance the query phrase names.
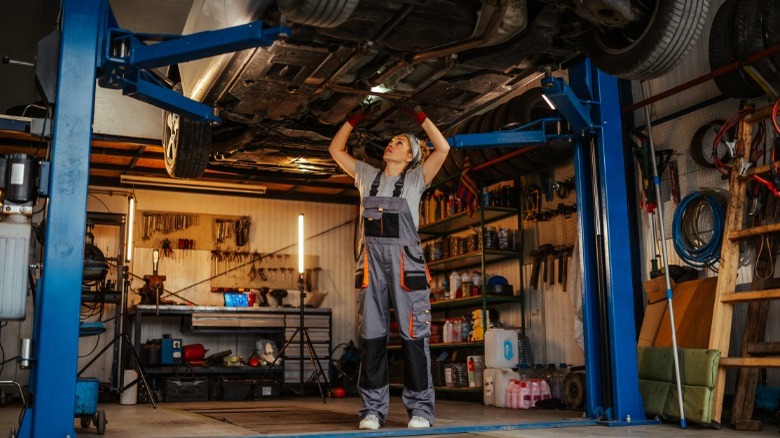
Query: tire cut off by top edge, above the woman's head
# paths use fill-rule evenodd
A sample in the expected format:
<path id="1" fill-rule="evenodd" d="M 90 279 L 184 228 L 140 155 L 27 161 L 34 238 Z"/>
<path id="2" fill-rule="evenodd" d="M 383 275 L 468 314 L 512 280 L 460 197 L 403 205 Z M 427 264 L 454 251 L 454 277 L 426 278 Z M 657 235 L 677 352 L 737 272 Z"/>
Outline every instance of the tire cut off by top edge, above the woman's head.
<path id="1" fill-rule="evenodd" d="M 331 28 L 347 21 L 360 0 L 279 0 L 279 11 L 293 23 Z"/>

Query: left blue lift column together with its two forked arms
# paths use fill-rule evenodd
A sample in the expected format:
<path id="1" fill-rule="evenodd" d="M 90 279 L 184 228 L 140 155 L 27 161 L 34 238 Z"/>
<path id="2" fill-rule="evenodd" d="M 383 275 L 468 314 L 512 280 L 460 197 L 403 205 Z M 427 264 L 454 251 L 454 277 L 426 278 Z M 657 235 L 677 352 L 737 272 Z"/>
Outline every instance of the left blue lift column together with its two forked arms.
<path id="1" fill-rule="evenodd" d="M 270 45 L 290 35 L 261 22 L 187 36 L 120 29 L 107 0 L 63 0 L 43 276 L 35 293 L 32 402 L 21 437 L 75 436 L 79 309 L 95 80 L 206 123 L 213 108 L 171 91 L 148 69 Z M 156 44 L 147 45 L 146 41 Z"/>

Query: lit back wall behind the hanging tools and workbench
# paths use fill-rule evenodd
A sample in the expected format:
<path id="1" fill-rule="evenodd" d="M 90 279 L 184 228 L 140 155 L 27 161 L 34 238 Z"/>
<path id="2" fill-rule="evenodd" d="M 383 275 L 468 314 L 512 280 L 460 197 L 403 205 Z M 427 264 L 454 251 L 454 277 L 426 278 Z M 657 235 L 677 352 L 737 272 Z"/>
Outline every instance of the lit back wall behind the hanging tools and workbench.
<path id="1" fill-rule="evenodd" d="M 107 194 L 96 193 L 93 190 L 88 199 L 89 211 L 110 211 L 113 213 L 126 213 L 126 194 L 117 191 Z M 134 195 L 137 200 L 138 210 L 158 210 L 181 213 L 197 213 L 228 216 L 250 216 L 249 247 L 250 251 L 260 253 L 275 252 L 281 248 L 293 245 L 283 253 L 297 254 L 297 217 L 303 213 L 306 218 L 305 235 L 314 234 L 335 228 L 333 231 L 320 237 L 309 239 L 306 242 L 306 254 L 319 257 L 319 267 L 322 268 L 319 276 L 320 290 L 327 292 L 328 296 L 322 307 L 333 309 L 333 345 L 356 339 L 355 323 L 356 308 L 353 287 L 354 258 L 352 255 L 352 224 L 348 223 L 355 217 L 357 208 L 350 205 L 315 204 L 308 202 L 293 202 L 279 200 L 265 200 L 257 198 L 243 198 L 227 195 L 195 195 L 173 192 L 136 190 Z M 344 226 L 340 226 L 345 224 Z M 140 219 L 136 220 L 136 226 L 140 226 Z M 116 236 L 111 230 L 101 231 L 96 228 L 96 245 L 101 248 L 106 257 L 112 257 L 117 252 Z M 158 236 L 159 237 L 159 236 Z M 159 273 L 166 275 L 165 289 L 169 291 L 182 291 L 180 295 L 198 304 L 221 304 L 221 294 L 211 293 L 209 281 L 202 285 L 190 288 L 189 286 L 206 280 L 213 275 L 211 270 L 211 249 L 213 242 L 198 241 L 196 248 L 200 250 L 180 251 L 174 249 L 175 259 L 163 258 L 160 261 Z M 130 266 L 132 274 L 143 277 L 152 272 L 152 259 L 150 248 L 137 248 Z M 235 286 L 247 286 L 248 279 L 235 277 Z M 131 284 L 131 290 L 135 291 L 143 285 L 143 281 L 135 278 Z M 259 287 L 262 283 L 252 284 Z M 134 292 L 130 293 L 131 299 L 136 298 Z M 173 297 L 176 300 L 175 297 Z M 103 320 L 113 315 L 112 306 L 106 305 Z M 144 339 L 159 338 L 162 333 L 177 333 L 179 323 L 176 319 L 167 319 L 160 324 L 150 325 L 144 329 Z M 109 332 L 100 337 L 98 350 L 109 342 L 113 335 Z M 234 353 L 247 357 L 254 348 L 252 336 L 236 335 L 199 335 L 194 336 L 185 333 L 185 343 L 203 343 L 211 352 L 224 349 L 232 349 Z M 80 354 L 85 355 L 95 346 L 96 338 L 83 338 L 80 342 Z M 80 360 L 80 366 L 89 358 Z M 107 379 L 111 370 L 111 355 L 106 354 L 90 368 L 90 375 Z"/>

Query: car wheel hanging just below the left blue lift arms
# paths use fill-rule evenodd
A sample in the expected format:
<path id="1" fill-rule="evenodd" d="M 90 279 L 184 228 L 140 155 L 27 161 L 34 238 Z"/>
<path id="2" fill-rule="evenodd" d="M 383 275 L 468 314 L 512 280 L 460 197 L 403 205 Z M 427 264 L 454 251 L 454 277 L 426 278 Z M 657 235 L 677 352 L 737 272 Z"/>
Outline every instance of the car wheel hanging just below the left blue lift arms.
<path id="1" fill-rule="evenodd" d="M 174 91 L 181 92 L 181 84 Z M 203 175 L 211 154 L 211 128 L 179 114 L 163 111 L 165 169 L 174 178 Z"/>

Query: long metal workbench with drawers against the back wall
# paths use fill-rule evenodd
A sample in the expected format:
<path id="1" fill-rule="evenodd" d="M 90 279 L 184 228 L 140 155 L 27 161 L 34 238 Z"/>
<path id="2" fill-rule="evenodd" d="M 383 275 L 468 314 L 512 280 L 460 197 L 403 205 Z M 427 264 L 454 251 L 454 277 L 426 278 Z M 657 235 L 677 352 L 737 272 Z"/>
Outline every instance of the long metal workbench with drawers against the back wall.
<path id="1" fill-rule="evenodd" d="M 299 325 L 300 310 L 296 307 L 224 307 L 224 306 L 183 306 L 139 304 L 128 309 L 128 317 L 133 326 L 133 344 L 136 352 L 141 355 L 143 330 L 145 323 L 160 318 L 179 317 L 182 335 L 192 334 L 246 334 L 277 337 L 288 341 Z M 330 375 L 330 352 L 332 350 L 332 311 L 331 309 L 306 308 L 304 323 L 308 328 L 312 346 L 320 359 L 327 376 Z M 300 342 L 301 336 L 296 335 L 287 347 L 285 361 L 274 370 L 284 372 L 284 382 L 297 384 L 300 381 Z M 185 338 L 185 344 L 186 344 Z M 278 345 L 281 349 L 283 345 Z M 303 349 L 304 379 L 314 371 L 309 361 L 307 349 Z M 149 374 L 172 374 L 176 369 L 185 367 L 147 368 Z M 265 372 L 264 367 L 194 367 L 188 373 L 213 374 L 246 374 Z"/>

